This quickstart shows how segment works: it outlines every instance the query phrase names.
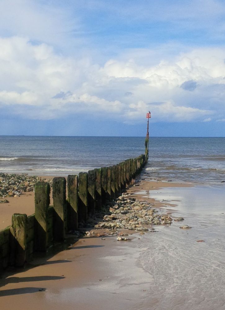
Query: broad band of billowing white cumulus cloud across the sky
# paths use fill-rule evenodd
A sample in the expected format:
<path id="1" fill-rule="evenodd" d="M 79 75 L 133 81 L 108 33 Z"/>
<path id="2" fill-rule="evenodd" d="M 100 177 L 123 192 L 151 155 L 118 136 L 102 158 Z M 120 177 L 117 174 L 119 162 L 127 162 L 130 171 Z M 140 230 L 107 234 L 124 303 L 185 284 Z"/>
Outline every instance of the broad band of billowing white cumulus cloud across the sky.
<path id="1" fill-rule="evenodd" d="M 10 114 L 33 119 L 90 111 L 98 119 L 135 122 L 148 110 L 152 121 L 225 117 L 225 49 L 195 49 L 154 65 L 145 65 L 138 55 L 123 58 L 100 67 L 90 58 L 65 57 L 28 38 L 1 38 L 1 107 L 17 106 Z"/>

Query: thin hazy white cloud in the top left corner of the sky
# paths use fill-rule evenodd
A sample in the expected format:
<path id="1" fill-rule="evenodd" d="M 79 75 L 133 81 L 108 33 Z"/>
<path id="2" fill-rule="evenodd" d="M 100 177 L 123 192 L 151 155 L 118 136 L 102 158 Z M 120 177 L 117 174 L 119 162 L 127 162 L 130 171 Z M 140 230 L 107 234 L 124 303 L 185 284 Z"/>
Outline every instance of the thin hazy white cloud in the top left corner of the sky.
<path id="1" fill-rule="evenodd" d="M 0 1 L 0 35 L 25 36 L 62 46 L 71 39 L 71 31 L 79 27 L 79 19 L 72 17 L 65 6 L 35 0 Z"/>

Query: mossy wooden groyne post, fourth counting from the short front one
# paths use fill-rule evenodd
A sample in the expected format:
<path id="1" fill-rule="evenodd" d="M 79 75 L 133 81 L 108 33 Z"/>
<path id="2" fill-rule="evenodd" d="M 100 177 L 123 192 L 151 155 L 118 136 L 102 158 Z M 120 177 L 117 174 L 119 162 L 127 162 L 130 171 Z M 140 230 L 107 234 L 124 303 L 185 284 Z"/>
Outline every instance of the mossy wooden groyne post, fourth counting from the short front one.
<path id="1" fill-rule="evenodd" d="M 68 175 L 67 177 L 68 191 L 68 209 L 67 222 L 68 230 L 76 230 L 78 228 L 78 175 Z"/>

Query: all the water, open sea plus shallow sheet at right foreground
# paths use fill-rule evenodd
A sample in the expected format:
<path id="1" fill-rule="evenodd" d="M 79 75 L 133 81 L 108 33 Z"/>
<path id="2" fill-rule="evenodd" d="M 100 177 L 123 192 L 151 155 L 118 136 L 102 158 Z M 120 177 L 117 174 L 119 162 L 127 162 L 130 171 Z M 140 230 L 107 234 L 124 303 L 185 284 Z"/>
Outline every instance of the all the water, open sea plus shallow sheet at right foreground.
<path id="1" fill-rule="evenodd" d="M 141 155 L 144 142 L 145 137 L 2 136 L 0 172 L 66 176 Z M 140 191 L 137 186 L 142 197 L 164 204 L 159 212 L 184 221 L 134 235 L 130 244 L 140 251 L 135 265 L 143 278 L 132 281 L 142 298 L 129 309 L 224 310 L 225 137 L 150 137 L 140 180 L 185 182 L 187 187 Z M 130 252 L 124 262 L 129 257 Z M 122 266 L 113 265 L 120 272 Z M 126 281 L 110 282 L 107 291 L 127 291 Z"/>

